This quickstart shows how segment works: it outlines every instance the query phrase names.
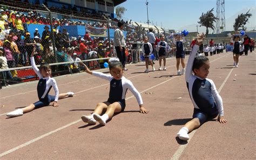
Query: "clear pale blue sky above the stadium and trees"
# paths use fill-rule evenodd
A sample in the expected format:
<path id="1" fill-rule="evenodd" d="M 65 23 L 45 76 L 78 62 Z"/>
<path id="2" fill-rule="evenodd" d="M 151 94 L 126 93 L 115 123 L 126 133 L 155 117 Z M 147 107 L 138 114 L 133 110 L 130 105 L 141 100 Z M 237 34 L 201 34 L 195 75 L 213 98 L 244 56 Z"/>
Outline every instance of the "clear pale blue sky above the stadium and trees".
<path id="1" fill-rule="evenodd" d="M 145 2 L 146 0 L 127 0 L 120 4 L 119 6 L 124 6 L 127 9 L 123 19 L 146 22 Z M 202 12 L 206 13 L 214 8 L 214 14 L 216 13 L 216 0 L 148 0 L 147 2 L 149 2 L 149 20 L 151 23 L 153 21 L 154 25 L 162 25 L 164 28 L 174 30 L 189 27 L 190 30 L 196 31 L 197 21 L 199 21 Z M 248 23 L 248 28 L 252 30 L 255 27 L 255 0 L 226 0 L 226 28 L 231 30 L 234 16 L 236 18 L 238 13 L 245 13 L 248 9 L 251 9 L 252 14 L 254 14 Z M 204 27 L 199 27 L 198 29 L 199 31 L 205 30 Z"/>

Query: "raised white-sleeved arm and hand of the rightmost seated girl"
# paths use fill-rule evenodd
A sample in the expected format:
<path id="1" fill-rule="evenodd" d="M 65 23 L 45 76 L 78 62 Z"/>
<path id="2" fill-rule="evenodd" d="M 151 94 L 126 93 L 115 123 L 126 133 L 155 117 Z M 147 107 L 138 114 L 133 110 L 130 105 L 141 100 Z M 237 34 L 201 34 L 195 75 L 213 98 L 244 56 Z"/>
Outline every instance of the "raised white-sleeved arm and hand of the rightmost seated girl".
<path id="1" fill-rule="evenodd" d="M 188 82 L 190 79 L 190 76 L 192 76 L 192 67 L 194 63 L 194 57 L 197 54 L 197 50 L 199 49 L 199 46 L 203 43 L 203 39 L 204 39 L 204 34 L 199 34 L 198 37 L 196 38 L 196 44 L 194 45 L 190 53 L 190 57 L 188 57 L 186 74 L 185 74 L 186 82 Z"/>

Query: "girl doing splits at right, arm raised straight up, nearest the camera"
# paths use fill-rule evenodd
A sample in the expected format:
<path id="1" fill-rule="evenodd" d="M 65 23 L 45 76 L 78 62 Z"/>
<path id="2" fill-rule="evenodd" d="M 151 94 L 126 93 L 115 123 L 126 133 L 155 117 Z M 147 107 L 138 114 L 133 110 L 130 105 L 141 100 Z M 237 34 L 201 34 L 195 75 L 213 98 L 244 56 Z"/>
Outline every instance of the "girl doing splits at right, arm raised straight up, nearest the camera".
<path id="1" fill-rule="evenodd" d="M 204 34 L 198 35 L 196 45 L 193 47 L 187 62 L 186 83 L 190 98 L 194 105 L 193 119 L 185 124 L 177 134 L 180 140 L 188 140 L 188 132 L 199 127 L 207 119 L 213 119 L 219 114 L 220 123 L 226 123 L 224 119 L 222 99 L 211 79 L 206 78 L 209 74 L 210 63 L 205 56 L 196 56 Z M 192 71 L 194 75 L 192 75 Z"/>

